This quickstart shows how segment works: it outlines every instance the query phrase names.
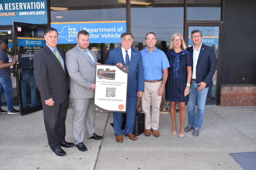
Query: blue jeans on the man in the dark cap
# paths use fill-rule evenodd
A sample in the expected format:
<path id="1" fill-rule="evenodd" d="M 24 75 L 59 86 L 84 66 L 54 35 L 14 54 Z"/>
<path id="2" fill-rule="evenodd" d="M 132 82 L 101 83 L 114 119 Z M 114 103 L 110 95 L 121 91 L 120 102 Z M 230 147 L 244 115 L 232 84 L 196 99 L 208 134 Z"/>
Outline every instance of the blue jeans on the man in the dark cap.
<path id="1" fill-rule="evenodd" d="M 8 110 L 13 110 L 13 86 L 11 77 L 0 77 L 0 99 L 5 91 L 5 100 L 8 106 Z M 2 108 L 0 102 L 0 109 Z"/>

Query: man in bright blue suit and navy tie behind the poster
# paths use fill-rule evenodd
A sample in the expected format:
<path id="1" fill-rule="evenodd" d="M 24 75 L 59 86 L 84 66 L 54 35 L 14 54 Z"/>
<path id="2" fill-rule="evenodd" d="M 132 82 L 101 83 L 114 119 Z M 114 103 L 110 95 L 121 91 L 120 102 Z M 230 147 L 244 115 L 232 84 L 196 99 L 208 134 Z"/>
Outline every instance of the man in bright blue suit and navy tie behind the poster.
<path id="1" fill-rule="evenodd" d="M 122 130 L 123 116 L 120 112 L 113 112 L 114 130 L 117 142 L 123 142 L 123 133 L 132 140 L 137 137 L 132 133 L 135 124 L 136 107 L 138 98 L 143 95 L 144 77 L 142 70 L 141 52 L 131 48 L 133 35 L 125 32 L 121 35 L 121 47 L 110 50 L 108 59 L 105 64 L 114 64 L 119 66 L 129 66 L 128 73 L 128 94 L 126 104 L 126 125 Z"/>

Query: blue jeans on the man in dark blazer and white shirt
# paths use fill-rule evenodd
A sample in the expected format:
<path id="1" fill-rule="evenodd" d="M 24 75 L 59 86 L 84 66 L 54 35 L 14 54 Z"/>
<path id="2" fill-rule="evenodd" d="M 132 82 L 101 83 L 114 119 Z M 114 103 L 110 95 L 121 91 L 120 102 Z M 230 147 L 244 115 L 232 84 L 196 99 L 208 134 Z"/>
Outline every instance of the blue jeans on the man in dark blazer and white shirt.
<path id="1" fill-rule="evenodd" d="M 204 91 L 198 91 L 198 85 L 196 81 L 191 81 L 189 88 L 189 101 L 188 105 L 188 125 L 194 128 L 200 128 L 204 115 L 205 115 L 205 102 L 209 87 L 205 88 Z M 197 113 L 196 113 L 196 101 L 197 101 Z"/>

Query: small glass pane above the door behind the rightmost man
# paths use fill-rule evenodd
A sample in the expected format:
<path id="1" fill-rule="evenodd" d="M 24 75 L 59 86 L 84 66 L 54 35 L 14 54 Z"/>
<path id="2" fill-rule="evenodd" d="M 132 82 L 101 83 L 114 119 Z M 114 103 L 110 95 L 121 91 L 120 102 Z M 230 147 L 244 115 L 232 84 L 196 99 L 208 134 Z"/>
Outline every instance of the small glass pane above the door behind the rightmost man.
<path id="1" fill-rule="evenodd" d="M 187 20 L 219 21 L 221 0 L 188 0 Z"/>

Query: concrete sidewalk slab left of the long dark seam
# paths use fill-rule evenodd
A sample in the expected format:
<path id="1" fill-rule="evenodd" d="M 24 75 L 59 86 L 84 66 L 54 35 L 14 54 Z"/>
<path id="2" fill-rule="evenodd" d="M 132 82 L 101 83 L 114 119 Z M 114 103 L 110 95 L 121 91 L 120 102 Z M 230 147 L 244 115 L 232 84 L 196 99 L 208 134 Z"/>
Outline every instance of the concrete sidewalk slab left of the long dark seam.
<path id="1" fill-rule="evenodd" d="M 72 130 L 73 110 L 68 109 L 66 141 L 74 142 Z M 95 133 L 103 135 L 107 113 L 96 113 Z M 88 151 L 81 152 L 76 146 L 63 148 L 67 155 L 57 156 L 50 149 L 45 132 L 43 112 L 21 116 L 0 115 L 0 169 L 93 169 L 101 140 L 85 139 Z"/>

